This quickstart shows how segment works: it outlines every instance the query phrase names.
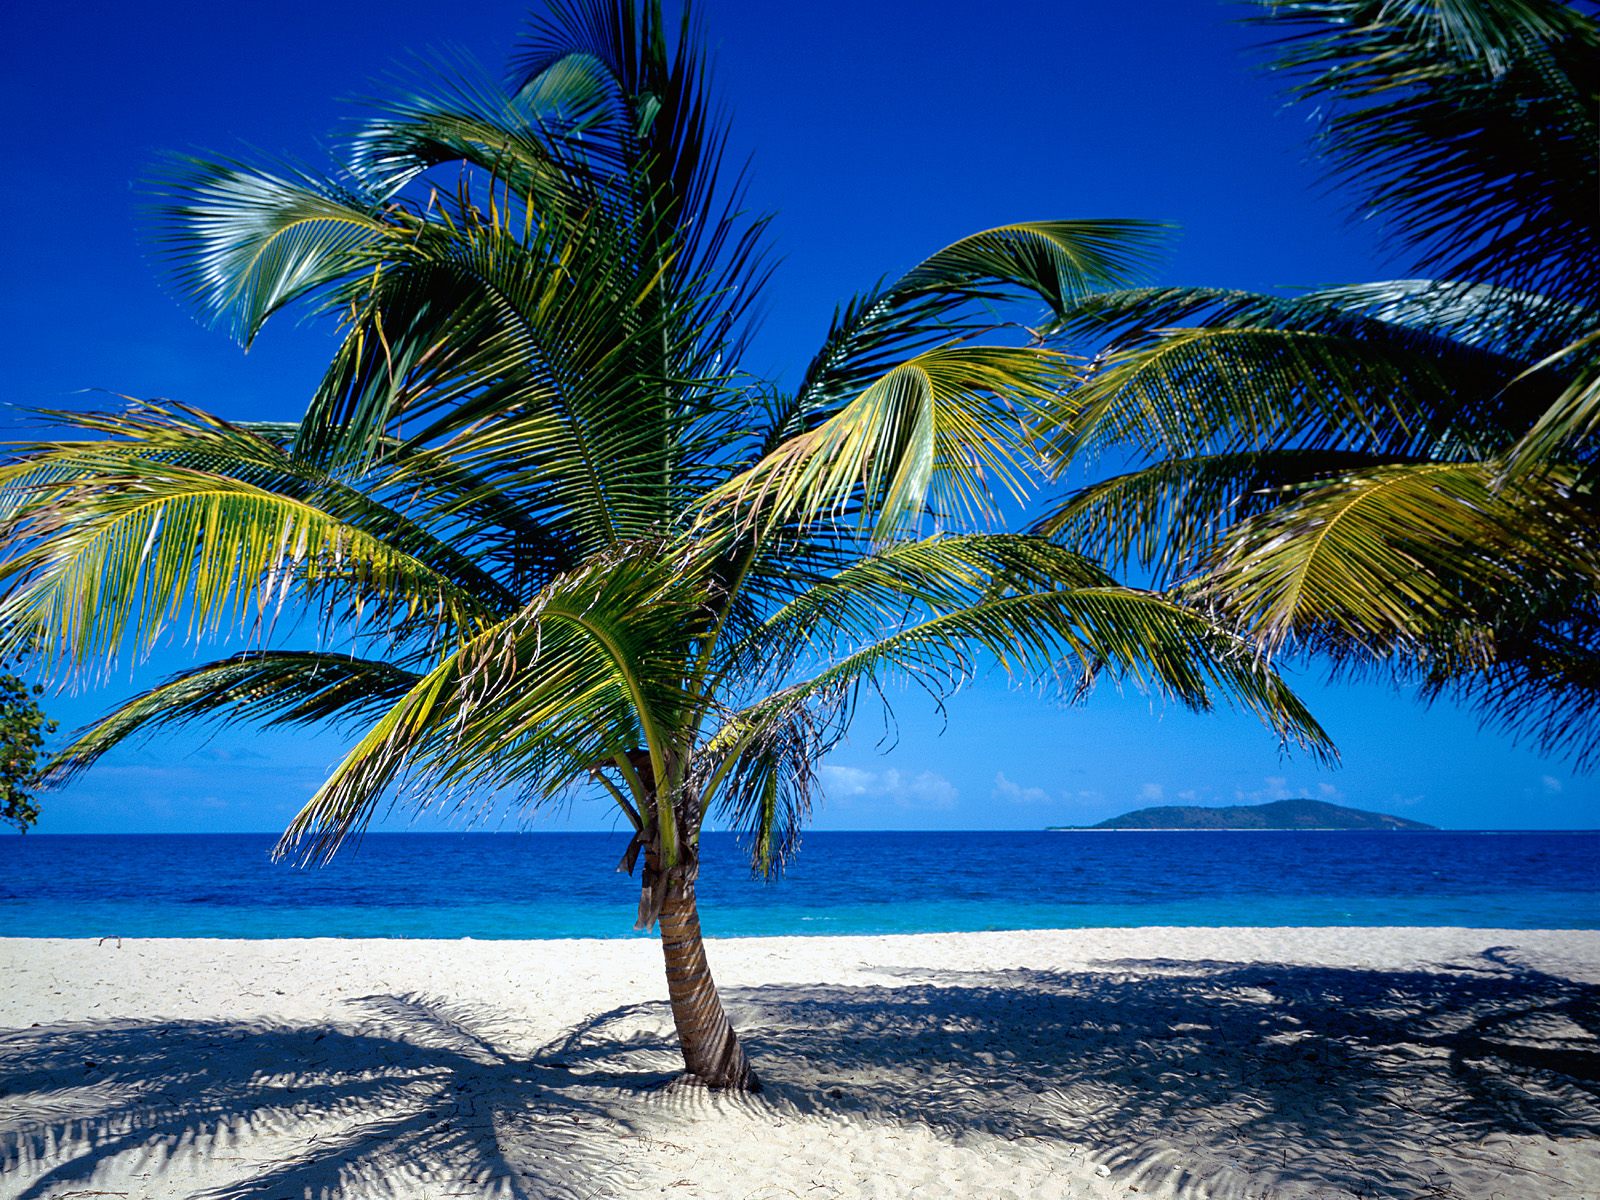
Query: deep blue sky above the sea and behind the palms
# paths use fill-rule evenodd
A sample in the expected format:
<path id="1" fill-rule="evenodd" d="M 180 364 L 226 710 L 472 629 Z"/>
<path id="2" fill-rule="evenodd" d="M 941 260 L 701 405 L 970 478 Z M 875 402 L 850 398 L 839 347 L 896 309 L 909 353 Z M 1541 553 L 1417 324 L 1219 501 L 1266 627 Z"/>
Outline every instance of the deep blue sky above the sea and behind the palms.
<path id="1" fill-rule="evenodd" d="M 138 232 L 136 181 L 158 155 L 325 160 L 350 96 L 416 56 L 498 70 L 525 8 L 85 3 L 0 18 L 0 91 L 26 186 L 0 256 L 3 400 L 93 406 L 85 389 L 170 397 L 235 418 L 294 418 L 326 333 L 283 325 L 243 355 L 163 291 Z M 1029 218 L 1138 216 L 1182 227 L 1165 282 L 1294 288 L 1395 274 L 1381 230 L 1346 219 L 1309 158 L 1309 118 L 1253 69 L 1238 6 L 814 0 L 701 6 L 750 203 L 778 213 L 781 258 L 750 366 L 794 374 L 832 307 L 974 229 Z M 974 19 L 981 11 L 982 19 Z M 26 221 L 29 232 L 14 230 Z M 14 414 L 0 416 L 16 429 Z M 64 725 L 182 661 L 166 648 Z M 1061 707 L 984 678 L 947 720 L 920 694 L 893 747 L 864 712 L 824 766 L 818 827 L 1008 829 L 1090 822 L 1144 803 L 1325 797 L 1448 827 L 1592 827 L 1600 795 L 1477 720 L 1376 685 L 1296 677 L 1342 766 L 1280 757 L 1237 714 L 1197 717 L 1098 691 Z M 331 734 L 171 734 L 46 797 L 45 832 L 267 830 L 336 760 Z M 507 827 L 518 814 L 504 814 Z M 598 805 L 534 827 L 605 827 Z M 406 827 L 397 818 L 389 827 Z M 493 827 L 493 826 L 491 826 Z"/>

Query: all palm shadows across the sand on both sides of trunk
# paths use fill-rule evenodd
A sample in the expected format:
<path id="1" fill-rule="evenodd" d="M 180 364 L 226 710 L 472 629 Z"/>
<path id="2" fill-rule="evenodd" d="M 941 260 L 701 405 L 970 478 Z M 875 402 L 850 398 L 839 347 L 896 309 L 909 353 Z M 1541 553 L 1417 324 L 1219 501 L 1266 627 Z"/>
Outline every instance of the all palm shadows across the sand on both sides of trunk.
<path id="1" fill-rule="evenodd" d="M 1027 1139 L 1157 1195 L 1578 1194 L 1526 1139 L 1600 1138 L 1600 987 L 1496 952 L 1448 973 L 1138 960 L 728 1000 L 768 1082 L 755 1099 L 659 1088 L 678 1062 L 659 1003 L 533 1054 L 501 1048 L 515 1014 L 421 997 L 326 1026 L 14 1030 L 0 1195 L 176 1195 L 181 1157 L 182 1192 L 218 1198 L 592 1200 L 638 1189 L 662 1133 L 693 1142 L 730 1106 L 818 1136 L 845 1117 Z"/>

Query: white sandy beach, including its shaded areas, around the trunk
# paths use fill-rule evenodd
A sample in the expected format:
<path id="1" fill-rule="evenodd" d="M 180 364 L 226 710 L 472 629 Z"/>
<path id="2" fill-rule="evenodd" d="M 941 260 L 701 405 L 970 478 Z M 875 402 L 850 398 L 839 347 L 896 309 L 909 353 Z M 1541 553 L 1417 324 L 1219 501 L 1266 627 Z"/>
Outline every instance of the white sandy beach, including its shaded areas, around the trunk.
<path id="1" fill-rule="evenodd" d="M 1600 1197 L 1600 934 L 0 939 L 0 1197 Z"/>

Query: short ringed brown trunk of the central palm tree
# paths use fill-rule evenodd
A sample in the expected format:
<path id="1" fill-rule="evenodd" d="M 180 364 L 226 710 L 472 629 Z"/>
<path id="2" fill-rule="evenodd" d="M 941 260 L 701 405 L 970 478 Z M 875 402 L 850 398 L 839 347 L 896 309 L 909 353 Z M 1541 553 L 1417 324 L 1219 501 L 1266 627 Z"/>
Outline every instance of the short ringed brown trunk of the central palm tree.
<path id="1" fill-rule="evenodd" d="M 675 878 L 661 904 L 661 950 L 667 960 L 667 994 L 678 1046 L 688 1074 L 712 1088 L 760 1091 L 733 1022 L 722 1006 L 706 965 L 706 942 L 694 906 L 694 880 Z"/>

